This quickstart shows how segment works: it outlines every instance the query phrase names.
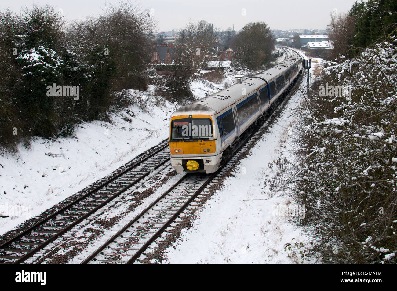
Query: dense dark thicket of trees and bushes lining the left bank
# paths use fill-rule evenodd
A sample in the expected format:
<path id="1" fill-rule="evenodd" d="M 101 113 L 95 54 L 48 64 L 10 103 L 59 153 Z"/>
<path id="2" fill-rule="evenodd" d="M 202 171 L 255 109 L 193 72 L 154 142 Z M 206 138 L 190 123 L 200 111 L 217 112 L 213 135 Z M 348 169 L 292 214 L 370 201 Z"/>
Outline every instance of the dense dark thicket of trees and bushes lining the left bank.
<path id="1" fill-rule="evenodd" d="M 69 26 L 50 5 L 0 12 L 0 154 L 21 138 L 67 136 L 82 120 L 107 118 L 126 101 L 112 89 L 145 91 L 154 24 L 130 1 Z"/>

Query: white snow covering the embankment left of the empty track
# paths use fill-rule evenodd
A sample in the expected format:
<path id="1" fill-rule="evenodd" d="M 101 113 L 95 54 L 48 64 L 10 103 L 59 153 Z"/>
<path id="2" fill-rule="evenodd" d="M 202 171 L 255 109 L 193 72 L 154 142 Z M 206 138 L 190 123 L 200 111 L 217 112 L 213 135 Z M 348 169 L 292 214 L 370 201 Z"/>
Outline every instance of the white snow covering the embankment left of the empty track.
<path id="1" fill-rule="evenodd" d="M 149 86 L 145 111 L 131 106 L 111 113 L 109 122 L 81 123 L 73 137 L 34 139 L 19 154 L 0 156 L 0 234 L 77 193 L 168 137 L 169 117 L 176 105 L 155 106 Z M 197 97 L 217 91 L 207 80 L 193 82 Z M 132 92 L 131 94 L 134 94 Z"/>

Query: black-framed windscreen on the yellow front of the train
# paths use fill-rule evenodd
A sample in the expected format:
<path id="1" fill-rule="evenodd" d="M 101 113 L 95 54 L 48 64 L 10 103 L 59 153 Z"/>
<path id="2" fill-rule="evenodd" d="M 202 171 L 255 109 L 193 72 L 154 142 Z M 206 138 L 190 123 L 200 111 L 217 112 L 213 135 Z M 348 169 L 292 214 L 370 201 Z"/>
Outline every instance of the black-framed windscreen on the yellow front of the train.
<path id="1" fill-rule="evenodd" d="M 210 139 L 212 122 L 209 118 L 175 119 L 171 123 L 171 140 Z"/>

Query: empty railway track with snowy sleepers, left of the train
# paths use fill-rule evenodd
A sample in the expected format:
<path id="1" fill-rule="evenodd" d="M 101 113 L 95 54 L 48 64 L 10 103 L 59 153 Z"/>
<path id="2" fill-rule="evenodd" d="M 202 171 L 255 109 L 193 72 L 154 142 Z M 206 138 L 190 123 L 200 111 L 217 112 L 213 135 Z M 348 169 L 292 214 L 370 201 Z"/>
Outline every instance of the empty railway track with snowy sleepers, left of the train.
<path id="1" fill-rule="evenodd" d="M 0 264 L 22 263 L 170 160 L 168 140 L 143 158 L 0 245 Z"/>

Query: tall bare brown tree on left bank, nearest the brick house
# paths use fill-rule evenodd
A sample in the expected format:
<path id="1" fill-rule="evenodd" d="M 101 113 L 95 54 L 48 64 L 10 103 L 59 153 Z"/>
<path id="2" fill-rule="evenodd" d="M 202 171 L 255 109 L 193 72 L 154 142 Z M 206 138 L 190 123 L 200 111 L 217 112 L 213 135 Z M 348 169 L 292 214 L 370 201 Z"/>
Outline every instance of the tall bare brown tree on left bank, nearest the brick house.
<path id="1" fill-rule="evenodd" d="M 83 58 L 100 46 L 104 55 L 116 63 L 119 76 L 139 75 L 150 59 L 147 36 L 156 24 L 149 10 L 135 2 L 121 1 L 107 5 L 99 17 L 73 23 L 69 46 Z"/>

